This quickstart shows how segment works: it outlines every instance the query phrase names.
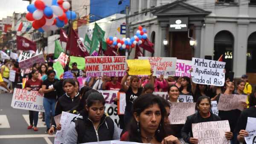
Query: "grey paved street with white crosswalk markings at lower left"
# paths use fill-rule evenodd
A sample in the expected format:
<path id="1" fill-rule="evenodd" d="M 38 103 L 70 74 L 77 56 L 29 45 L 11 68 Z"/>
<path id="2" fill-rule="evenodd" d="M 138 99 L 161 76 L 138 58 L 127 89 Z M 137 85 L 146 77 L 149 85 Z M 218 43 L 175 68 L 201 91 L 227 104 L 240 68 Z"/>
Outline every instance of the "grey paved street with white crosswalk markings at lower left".
<path id="1" fill-rule="evenodd" d="M 0 144 L 53 144 L 54 137 L 44 133 L 46 126 L 38 120 L 38 131 L 27 130 L 29 112 L 11 107 L 12 94 L 0 94 Z"/>

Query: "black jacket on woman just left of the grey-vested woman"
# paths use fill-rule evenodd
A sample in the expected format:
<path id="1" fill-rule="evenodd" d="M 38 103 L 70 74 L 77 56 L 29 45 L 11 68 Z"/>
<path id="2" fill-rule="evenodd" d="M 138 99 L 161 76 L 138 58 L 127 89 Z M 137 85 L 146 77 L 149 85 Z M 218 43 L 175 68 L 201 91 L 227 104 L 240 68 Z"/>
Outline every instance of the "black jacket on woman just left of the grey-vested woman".
<path id="1" fill-rule="evenodd" d="M 70 98 L 70 96 L 68 96 L 67 93 L 65 93 L 58 99 L 56 103 L 55 116 L 61 114 L 62 111 L 64 112 L 70 111 L 70 109 L 72 109 L 73 107 L 78 106 L 79 101 L 80 101 L 79 93 L 77 93 L 73 99 Z M 52 118 L 52 126 L 54 127 L 56 126 L 54 118 Z"/>

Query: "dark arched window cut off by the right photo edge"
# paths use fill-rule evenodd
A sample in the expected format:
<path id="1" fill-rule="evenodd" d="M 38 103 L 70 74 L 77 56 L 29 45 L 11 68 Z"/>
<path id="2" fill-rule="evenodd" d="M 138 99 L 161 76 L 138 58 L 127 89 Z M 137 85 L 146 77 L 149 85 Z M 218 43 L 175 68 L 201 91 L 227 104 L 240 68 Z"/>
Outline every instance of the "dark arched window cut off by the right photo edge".
<path id="1" fill-rule="evenodd" d="M 247 66 L 246 72 L 256 73 L 256 32 L 253 32 L 247 40 Z"/>

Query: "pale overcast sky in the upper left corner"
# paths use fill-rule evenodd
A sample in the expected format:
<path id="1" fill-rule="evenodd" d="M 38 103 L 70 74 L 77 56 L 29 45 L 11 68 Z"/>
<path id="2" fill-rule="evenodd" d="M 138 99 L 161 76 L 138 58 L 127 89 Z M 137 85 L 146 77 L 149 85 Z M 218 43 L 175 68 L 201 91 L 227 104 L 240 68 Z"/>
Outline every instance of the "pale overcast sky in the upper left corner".
<path id="1" fill-rule="evenodd" d="M 7 16 L 12 16 L 13 12 L 26 12 L 29 1 L 23 0 L 0 0 L 0 20 Z"/>

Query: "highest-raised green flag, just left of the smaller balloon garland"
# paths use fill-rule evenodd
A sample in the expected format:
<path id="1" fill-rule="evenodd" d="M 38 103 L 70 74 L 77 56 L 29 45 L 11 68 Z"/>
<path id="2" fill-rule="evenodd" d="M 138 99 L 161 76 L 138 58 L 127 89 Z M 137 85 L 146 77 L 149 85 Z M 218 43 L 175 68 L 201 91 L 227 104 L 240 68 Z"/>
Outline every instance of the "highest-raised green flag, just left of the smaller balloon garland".
<path id="1" fill-rule="evenodd" d="M 104 40 L 104 36 L 105 36 L 105 31 L 103 31 L 99 25 L 97 23 L 95 23 L 94 25 L 94 29 L 93 29 L 93 38 L 92 38 L 92 42 L 90 45 L 90 55 L 96 51 L 99 52 L 99 46 L 100 46 L 100 42 L 102 40 Z M 102 47 L 102 49 L 106 49 L 106 47 Z"/>

